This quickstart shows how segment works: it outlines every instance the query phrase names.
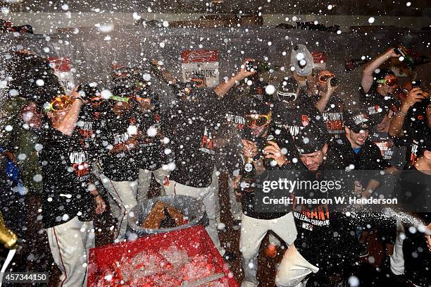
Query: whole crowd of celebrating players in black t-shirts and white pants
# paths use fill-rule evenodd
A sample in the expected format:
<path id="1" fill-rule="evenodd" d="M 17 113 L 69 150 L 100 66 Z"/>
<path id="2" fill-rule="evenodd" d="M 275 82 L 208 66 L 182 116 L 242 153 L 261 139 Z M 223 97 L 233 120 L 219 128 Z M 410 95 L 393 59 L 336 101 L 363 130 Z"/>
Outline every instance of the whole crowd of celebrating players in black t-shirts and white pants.
<path id="1" fill-rule="evenodd" d="M 23 174 L 25 193 L 41 197 L 35 220 L 46 230 L 63 286 L 85 284 L 94 216 L 108 203 L 117 223 L 115 242 L 125 240 L 127 214 L 148 199 L 153 178 L 164 195 L 204 202 L 206 230 L 224 254 L 217 230 L 220 173 L 230 175 L 230 192 L 242 209 L 242 286 L 258 286 L 258 250 L 268 231 L 288 246 L 277 286 L 336 286 L 368 255 L 370 230 L 385 243 L 384 264 L 392 276 L 429 286 L 430 225 L 413 232 L 394 218 L 362 214 L 365 219 L 356 221 L 325 206 L 258 212 L 254 192 L 242 186 L 249 169 L 393 175 L 408 169 L 420 174 L 415 191 L 428 191 L 424 202 L 430 202 L 430 97 L 415 81 L 399 86 L 382 67 L 399 56 L 388 49 L 368 63 L 358 97 L 343 100 L 334 73 L 313 68 L 304 45 L 292 50 L 291 72 L 280 83 L 265 83 L 252 59 L 214 88 L 199 74 L 180 83 L 155 62 L 117 73 L 109 90 L 87 83 L 68 96 L 44 59 L 20 51 L 12 57 L 1 114 L 1 152 Z M 8 177 L 1 188 L 14 184 Z M 368 198 L 380 182 L 364 178 L 355 184 L 356 195 Z M 416 216 L 431 223 L 427 213 Z M 311 224 L 316 221 L 325 224 Z M 412 252 L 416 256 L 404 256 Z"/>

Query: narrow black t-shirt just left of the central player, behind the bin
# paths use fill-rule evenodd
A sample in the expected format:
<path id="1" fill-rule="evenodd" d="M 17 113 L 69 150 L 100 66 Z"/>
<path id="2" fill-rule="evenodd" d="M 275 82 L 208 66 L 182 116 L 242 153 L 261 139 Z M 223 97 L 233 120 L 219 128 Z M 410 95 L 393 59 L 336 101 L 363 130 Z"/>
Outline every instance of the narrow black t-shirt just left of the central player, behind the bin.
<path id="1" fill-rule="evenodd" d="M 139 169 L 154 171 L 167 164 L 168 157 L 163 144 L 166 134 L 164 124 L 165 121 L 158 109 L 137 114 L 137 126 L 142 131 L 137 152 Z"/>

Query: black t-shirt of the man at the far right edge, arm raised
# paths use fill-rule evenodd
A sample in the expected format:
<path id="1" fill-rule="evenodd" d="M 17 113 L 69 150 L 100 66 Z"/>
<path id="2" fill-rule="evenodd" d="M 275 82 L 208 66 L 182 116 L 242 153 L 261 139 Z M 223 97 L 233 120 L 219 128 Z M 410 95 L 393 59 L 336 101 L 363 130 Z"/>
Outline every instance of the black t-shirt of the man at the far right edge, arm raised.
<path id="1" fill-rule="evenodd" d="M 395 145 L 407 147 L 404 169 L 410 169 L 418 159 L 418 147 L 421 141 L 430 137 L 430 127 L 427 125 L 425 106 L 416 104 L 408 110 L 404 120 L 403 135 L 395 138 Z"/>

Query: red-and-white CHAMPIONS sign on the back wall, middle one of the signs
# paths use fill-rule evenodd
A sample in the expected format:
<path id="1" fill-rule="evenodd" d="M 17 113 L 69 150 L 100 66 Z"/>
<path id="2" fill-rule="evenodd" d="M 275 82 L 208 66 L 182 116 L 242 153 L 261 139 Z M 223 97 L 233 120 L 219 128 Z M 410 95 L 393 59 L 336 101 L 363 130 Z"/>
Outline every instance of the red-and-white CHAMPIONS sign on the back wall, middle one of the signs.
<path id="1" fill-rule="evenodd" d="M 181 53 L 182 80 L 189 82 L 192 75 L 201 73 L 208 87 L 218 85 L 218 51 L 185 50 Z"/>

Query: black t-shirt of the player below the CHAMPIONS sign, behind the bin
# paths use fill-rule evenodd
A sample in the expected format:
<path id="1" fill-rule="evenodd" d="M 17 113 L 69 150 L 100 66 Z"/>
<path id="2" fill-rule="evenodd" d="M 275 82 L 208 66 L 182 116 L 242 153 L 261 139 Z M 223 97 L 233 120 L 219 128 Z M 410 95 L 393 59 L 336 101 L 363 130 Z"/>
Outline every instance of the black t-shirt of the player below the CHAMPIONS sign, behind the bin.
<path id="1" fill-rule="evenodd" d="M 169 126 L 170 146 L 174 151 L 175 169 L 170 180 L 194 188 L 211 185 L 214 161 L 217 154 L 214 148 L 215 133 L 223 121 L 213 90 L 200 89 L 199 102 L 178 101 L 171 107 Z"/>

